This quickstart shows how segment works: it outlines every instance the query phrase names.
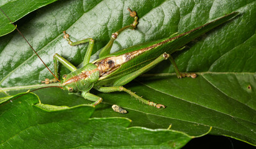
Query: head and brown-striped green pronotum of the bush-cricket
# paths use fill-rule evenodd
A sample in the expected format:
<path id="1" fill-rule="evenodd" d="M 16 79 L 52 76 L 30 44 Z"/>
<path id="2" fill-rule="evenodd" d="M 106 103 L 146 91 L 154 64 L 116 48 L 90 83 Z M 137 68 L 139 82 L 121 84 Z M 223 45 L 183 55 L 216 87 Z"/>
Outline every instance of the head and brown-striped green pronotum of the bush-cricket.
<path id="1" fill-rule="evenodd" d="M 88 63 L 68 75 L 63 75 L 62 86 L 63 89 L 68 90 L 70 93 L 89 91 L 98 79 L 99 70 L 97 66 Z"/>

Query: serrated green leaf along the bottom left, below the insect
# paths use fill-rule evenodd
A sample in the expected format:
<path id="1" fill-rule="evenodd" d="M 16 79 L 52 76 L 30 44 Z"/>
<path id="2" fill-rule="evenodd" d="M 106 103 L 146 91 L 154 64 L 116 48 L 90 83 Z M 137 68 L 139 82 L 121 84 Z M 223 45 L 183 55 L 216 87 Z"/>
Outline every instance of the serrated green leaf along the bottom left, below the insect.
<path id="1" fill-rule="evenodd" d="M 39 104 L 31 93 L 10 100 L 0 109 L 0 148 L 181 148 L 192 138 L 174 130 L 127 128 L 131 120 L 122 117 L 90 119 L 93 106 Z"/>

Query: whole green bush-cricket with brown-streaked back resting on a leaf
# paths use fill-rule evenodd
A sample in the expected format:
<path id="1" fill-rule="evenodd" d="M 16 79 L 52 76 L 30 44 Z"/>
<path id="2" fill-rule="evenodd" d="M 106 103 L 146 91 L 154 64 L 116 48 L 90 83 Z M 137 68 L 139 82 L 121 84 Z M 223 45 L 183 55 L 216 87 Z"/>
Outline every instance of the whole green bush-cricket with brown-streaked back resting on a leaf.
<path id="1" fill-rule="evenodd" d="M 110 53 L 114 40 L 126 29 L 135 29 L 139 23 L 139 18 L 135 11 L 130 11 L 130 16 L 134 18 L 134 22 L 130 25 L 122 27 L 117 32 L 111 35 L 111 39 L 107 45 L 99 53 L 99 59 L 89 63 L 91 53 L 93 51 L 94 40 L 93 38 L 86 38 L 77 42 L 72 42 L 70 36 L 64 31 L 64 38 L 68 41 L 68 44 L 75 46 L 81 43 L 88 42 L 88 49 L 83 60 L 83 66 L 77 69 L 69 61 L 65 60 L 57 53 L 53 56 L 54 62 L 54 75 L 55 79 L 45 79 L 43 83 L 55 83 L 58 80 L 58 61 L 62 63 L 68 70 L 71 71 L 68 75 L 63 75 L 63 80 L 60 81 L 62 89 L 67 90 L 69 94 L 81 92 L 81 96 L 89 101 L 93 101 L 92 105 L 96 106 L 103 99 L 99 96 L 89 93 L 94 88 L 103 93 L 111 93 L 115 91 L 124 91 L 131 96 L 139 99 L 144 104 L 154 106 L 157 108 L 165 108 L 162 104 L 157 104 L 152 101 L 137 96 L 137 94 L 124 88 L 124 84 L 129 83 L 137 76 L 142 75 L 146 71 L 153 68 L 155 65 L 163 60 L 170 60 L 175 68 L 178 78 L 191 77 L 196 78 L 194 73 L 180 73 L 176 66 L 175 61 L 170 56 L 171 53 L 182 50 L 186 43 L 191 42 L 194 38 L 214 29 L 218 25 L 223 24 L 227 20 L 230 20 L 239 14 L 238 12 L 232 12 L 219 19 L 213 20 L 208 24 L 201 25 L 195 29 L 182 34 L 173 34 L 168 38 L 163 38 L 154 42 L 144 43 L 141 45 L 135 45 L 133 47 L 119 50 L 116 53 Z M 182 41 L 182 42 L 180 42 Z"/>

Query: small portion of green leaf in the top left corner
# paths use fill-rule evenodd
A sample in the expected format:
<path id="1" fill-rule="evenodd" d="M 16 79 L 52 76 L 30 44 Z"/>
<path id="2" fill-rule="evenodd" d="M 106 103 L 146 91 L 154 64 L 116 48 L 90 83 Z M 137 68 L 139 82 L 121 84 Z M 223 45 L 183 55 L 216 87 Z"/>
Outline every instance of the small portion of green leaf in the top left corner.
<path id="1" fill-rule="evenodd" d="M 16 22 L 16 20 L 21 19 L 30 12 L 55 1 L 57 0 L 1 1 L 0 7 L 2 11 L 9 17 L 9 19 L 12 20 L 12 22 Z M 2 35 L 9 34 L 15 29 L 14 25 L 10 24 L 9 19 L 7 19 L 7 17 L 2 12 L 0 13 L 0 37 Z"/>

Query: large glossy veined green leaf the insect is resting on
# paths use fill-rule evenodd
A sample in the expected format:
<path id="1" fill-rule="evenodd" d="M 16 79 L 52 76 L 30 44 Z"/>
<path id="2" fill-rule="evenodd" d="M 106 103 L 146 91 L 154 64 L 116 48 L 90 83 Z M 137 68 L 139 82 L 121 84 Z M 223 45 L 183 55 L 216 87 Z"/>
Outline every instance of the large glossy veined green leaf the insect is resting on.
<path id="1" fill-rule="evenodd" d="M 60 1 L 36 11 L 20 30 L 51 69 L 55 53 L 78 66 L 88 44 L 70 47 L 62 31 L 67 30 L 72 40 L 94 38 L 95 59 L 111 33 L 132 22 L 127 7 L 137 11 L 139 25 L 119 35 L 112 52 L 185 32 L 233 11 L 240 15 L 173 55 L 180 71 L 196 72 L 198 78 L 177 79 L 170 63 L 164 61 L 126 85 L 145 99 L 165 104 L 166 109 L 145 106 L 125 93 L 95 92 L 104 104 L 97 106 L 93 116 L 128 117 L 132 126 L 150 129 L 167 129 L 171 124 L 171 129 L 190 135 L 200 135 L 212 126 L 211 134 L 255 145 L 256 1 Z M 27 89 L 25 85 L 38 88 L 41 80 L 52 78 L 20 35 L 2 37 L 0 45 L 1 96 L 20 93 Z M 68 73 L 63 66 L 60 69 L 61 75 Z M 89 103 L 60 89 L 35 93 L 44 104 Z M 112 104 L 129 114 L 113 112 Z"/>

